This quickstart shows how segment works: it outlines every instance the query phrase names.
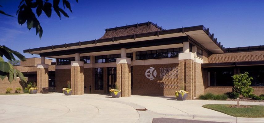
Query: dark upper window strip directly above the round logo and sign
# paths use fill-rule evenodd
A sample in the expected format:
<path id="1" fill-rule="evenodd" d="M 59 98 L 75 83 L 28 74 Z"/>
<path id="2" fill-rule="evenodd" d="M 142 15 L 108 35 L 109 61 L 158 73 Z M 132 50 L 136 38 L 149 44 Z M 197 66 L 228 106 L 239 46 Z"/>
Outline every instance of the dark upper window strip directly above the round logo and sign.
<path id="1" fill-rule="evenodd" d="M 182 48 L 171 48 L 162 50 L 148 50 L 136 52 L 136 60 L 158 59 L 158 58 L 177 58 L 182 53 Z"/>

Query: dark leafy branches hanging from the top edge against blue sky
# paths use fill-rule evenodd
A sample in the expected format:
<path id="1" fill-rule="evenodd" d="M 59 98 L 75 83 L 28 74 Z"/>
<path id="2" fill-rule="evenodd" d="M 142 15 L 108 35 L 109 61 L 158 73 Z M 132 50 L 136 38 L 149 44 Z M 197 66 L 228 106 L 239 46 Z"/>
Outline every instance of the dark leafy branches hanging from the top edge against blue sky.
<path id="1" fill-rule="evenodd" d="M 59 7 L 59 3 L 61 0 L 53 0 L 53 5 L 48 2 L 49 0 L 21 0 L 18 6 L 18 10 L 16 11 L 18 24 L 24 24 L 27 22 L 27 29 L 30 30 L 31 28 L 36 28 L 36 35 L 39 34 L 39 37 L 42 37 L 43 29 L 40 26 L 39 20 L 36 18 L 35 13 L 33 12 L 32 8 L 36 8 L 36 14 L 39 17 L 42 14 L 42 11 L 47 15 L 48 18 L 51 17 L 52 7 L 54 11 L 57 13 L 57 15 L 61 18 L 61 14 L 63 14 L 65 17 L 69 18 L 69 15 Z M 78 0 L 76 0 L 78 2 Z M 68 8 L 70 12 L 71 5 L 68 0 L 62 0 L 63 7 L 65 9 Z M 0 5 L 0 7 L 2 7 Z M 0 10 L 0 14 L 4 14 L 7 16 L 12 16 L 9 14 L 6 14 L 4 11 Z"/>

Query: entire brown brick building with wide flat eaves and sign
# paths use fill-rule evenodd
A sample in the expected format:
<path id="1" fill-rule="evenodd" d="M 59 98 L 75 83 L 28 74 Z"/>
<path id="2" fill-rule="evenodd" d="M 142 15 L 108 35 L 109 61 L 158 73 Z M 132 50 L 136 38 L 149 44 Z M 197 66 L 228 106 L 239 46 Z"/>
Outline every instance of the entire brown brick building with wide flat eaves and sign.
<path id="1" fill-rule="evenodd" d="M 264 46 L 226 49 L 203 25 L 164 30 L 146 22 L 106 29 L 102 38 L 92 41 L 24 53 L 41 57 L 40 64 L 25 72 L 35 72 L 41 88 L 51 86 L 49 74 L 54 71 L 57 92 L 71 81 L 75 95 L 118 88 L 122 97 L 174 96 L 184 89 L 193 99 L 232 91 L 231 76 L 247 71 L 254 78 L 254 93 L 264 93 Z M 45 58 L 56 58 L 56 65 L 48 65 Z"/>

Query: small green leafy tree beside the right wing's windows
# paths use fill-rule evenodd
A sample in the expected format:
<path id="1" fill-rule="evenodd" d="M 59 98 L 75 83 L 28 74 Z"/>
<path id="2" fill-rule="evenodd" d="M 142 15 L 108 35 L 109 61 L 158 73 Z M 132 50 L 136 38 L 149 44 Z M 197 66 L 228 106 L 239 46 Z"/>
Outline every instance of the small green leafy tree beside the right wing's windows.
<path id="1" fill-rule="evenodd" d="M 253 80 L 253 78 L 249 77 L 248 74 L 248 72 L 245 72 L 244 74 L 240 73 L 232 76 L 234 92 L 241 94 L 243 97 L 248 97 L 254 91 L 252 87 L 249 87 L 251 85 L 250 80 Z"/>

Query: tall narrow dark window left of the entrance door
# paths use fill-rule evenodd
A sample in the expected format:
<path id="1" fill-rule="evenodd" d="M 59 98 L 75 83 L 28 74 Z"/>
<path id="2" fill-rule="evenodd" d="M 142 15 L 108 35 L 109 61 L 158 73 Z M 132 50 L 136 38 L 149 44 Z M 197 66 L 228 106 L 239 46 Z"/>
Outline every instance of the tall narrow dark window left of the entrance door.
<path id="1" fill-rule="evenodd" d="M 95 90 L 103 90 L 103 68 L 95 68 Z"/>

